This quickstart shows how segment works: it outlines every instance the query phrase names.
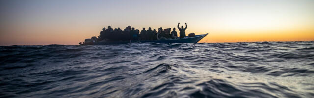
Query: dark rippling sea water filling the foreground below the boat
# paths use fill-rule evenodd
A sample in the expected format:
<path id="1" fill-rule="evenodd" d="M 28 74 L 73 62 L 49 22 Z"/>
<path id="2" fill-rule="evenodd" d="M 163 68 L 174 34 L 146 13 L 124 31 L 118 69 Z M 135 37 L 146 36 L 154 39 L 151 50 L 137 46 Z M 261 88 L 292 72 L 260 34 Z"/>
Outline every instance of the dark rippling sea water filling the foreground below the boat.
<path id="1" fill-rule="evenodd" d="M 0 97 L 313 98 L 314 42 L 1 46 Z"/>

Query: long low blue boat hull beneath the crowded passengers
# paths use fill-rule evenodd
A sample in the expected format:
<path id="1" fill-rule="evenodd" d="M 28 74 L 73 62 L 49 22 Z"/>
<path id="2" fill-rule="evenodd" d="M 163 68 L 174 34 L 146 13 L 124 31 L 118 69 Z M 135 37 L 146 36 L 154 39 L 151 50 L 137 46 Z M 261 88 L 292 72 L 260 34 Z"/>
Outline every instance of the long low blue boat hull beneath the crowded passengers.
<path id="1" fill-rule="evenodd" d="M 127 43 L 197 43 L 202 38 L 204 38 L 208 33 L 202 35 L 195 35 L 193 37 L 185 37 L 181 39 L 169 39 L 169 40 L 136 40 L 136 41 L 88 41 L 89 43 L 85 43 L 84 45 L 109 45 L 109 44 L 127 44 Z M 92 42 L 92 43 L 91 43 Z"/>

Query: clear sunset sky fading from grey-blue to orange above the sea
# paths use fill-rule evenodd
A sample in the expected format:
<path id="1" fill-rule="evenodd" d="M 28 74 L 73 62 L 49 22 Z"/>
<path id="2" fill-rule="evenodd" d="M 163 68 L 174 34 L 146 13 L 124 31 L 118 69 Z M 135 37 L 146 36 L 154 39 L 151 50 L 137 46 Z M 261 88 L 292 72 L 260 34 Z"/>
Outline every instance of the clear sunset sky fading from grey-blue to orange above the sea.
<path id="1" fill-rule="evenodd" d="M 0 45 L 78 45 L 109 25 L 178 22 L 209 33 L 200 42 L 313 41 L 314 0 L 0 0 Z"/>

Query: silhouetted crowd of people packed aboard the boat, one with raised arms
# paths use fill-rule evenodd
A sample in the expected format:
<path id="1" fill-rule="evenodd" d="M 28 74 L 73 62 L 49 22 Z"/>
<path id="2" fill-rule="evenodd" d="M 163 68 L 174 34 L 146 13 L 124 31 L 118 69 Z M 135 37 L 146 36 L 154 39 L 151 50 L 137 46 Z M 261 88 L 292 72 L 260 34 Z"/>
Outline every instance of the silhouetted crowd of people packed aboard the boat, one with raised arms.
<path id="1" fill-rule="evenodd" d="M 138 29 L 135 29 L 134 27 L 131 28 L 131 26 L 126 27 L 124 30 L 120 28 L 111 28 L 111 26 L 108 26 L 108 28 L 103 28 L 103 31 L 100 32 L 100 35 L 97 38 L 97 41 L 107 40 L 107 41 L 129 41 L 129 40 L 166 40 L 166 39 L 177 39 L 177 38 L 184 38 L 185 30 L 187 28 L 187 25 L 185 23 L 185 28 L 181 26 L 179 28 L 178 23 L 178 29 L 180 31 L 180 36 L 178 37 L 176 28 L 173 28 L 171 31 L 171 28 L 162 29 L 161 27 L 158 28 L 158 31 L 155 29 L 152 30 L 151 27 L 146 30 L 143 28 L 141 31 Z"/>

